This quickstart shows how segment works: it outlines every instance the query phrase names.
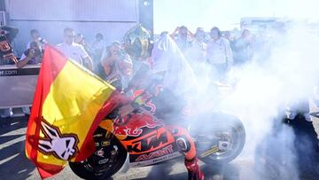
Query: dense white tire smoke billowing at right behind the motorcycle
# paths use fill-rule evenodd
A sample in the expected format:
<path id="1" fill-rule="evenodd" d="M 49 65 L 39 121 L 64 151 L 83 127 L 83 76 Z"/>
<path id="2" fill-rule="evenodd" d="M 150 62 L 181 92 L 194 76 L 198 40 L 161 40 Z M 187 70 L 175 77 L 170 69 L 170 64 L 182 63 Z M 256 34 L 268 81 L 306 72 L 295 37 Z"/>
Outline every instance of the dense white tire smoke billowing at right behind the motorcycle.
<path id="1" fill-rule="evenodd" d="M 236 113 L 245 124 L 247 134 L 242 156 L 253 159 L 261 141 L 276 133 L 272 132 L 276 130 L 273 129 L 274 124 L 283 119 L 287 102 L 307 100 L 313 87 L 318 84 L 319 35 L 314 33 L 315 30 L 318 29 L 294 24 L 285 34 L 276 34 L 275 38 L 271 38 L 267 58 L 255 54 L 252 62 L 234 69 L 232 75 L 237 78 L 237 87 L 230 97 L 223 100 L 222 108 Z M 261 50 L 267 51 L 267 46 Z M 284 161 L 293 162 L 296 158 L 292 145 L 293 132 L 282 130 L 284 135 L 278 138 L 287 145 L 276 148 L 281 148 L 281 153 L 286 154 Z M 272 140 L 274 145 L 281 143 L 276 138 L 268 139 Z M 291 168 L 298 172 L 296 167 Z"/>

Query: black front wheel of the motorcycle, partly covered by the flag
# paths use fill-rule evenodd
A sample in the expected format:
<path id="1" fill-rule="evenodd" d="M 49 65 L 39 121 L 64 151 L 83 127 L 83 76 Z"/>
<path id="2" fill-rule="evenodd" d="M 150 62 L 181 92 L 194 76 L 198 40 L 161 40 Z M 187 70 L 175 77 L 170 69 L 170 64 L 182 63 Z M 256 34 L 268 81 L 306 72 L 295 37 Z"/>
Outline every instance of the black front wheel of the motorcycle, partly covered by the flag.
<path id="1" fill-rule="evenodd" d="M 107 179 L 120 170 L 127 158 L 127 151 L 121 142 L 107 134 L 105 129 L 98 128 L 94 134 L 96 152 L 87 160 L 69 162 L 75 175 L 83 179 Z"/>

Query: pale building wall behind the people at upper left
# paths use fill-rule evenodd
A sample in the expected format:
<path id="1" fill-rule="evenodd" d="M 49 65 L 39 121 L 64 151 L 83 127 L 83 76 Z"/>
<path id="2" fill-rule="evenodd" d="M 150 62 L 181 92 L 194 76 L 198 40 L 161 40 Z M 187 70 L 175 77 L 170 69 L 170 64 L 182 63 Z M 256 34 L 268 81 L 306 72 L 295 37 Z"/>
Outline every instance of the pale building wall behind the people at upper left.
<path id="1" fill-rule="evenodd" d="M 63 41 L 63 29 L 73 27 L 88 43 L 97 33 L 110 43 L 138 23 L 138 0 L 6 0 L 8 24 L 19 28 L 15 46 L 20 55 L 36 28 L 51 44 Z"/>

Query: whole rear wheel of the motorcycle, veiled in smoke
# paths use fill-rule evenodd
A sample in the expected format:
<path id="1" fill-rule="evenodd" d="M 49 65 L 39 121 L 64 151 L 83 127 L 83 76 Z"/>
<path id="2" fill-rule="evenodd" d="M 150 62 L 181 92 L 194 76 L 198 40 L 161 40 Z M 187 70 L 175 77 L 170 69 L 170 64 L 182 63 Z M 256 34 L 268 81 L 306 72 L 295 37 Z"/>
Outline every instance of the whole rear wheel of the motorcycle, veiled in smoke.
<path id="1" fill-rule="evenodd" d="M 207 117 L 207 116 L 206 116 Z M 205 126 L 196 130 L 195 145 L 199 160 L 216 165 L 234 160 L 244 148 L 245 128 L 231 113 L 214 113 Z"/>

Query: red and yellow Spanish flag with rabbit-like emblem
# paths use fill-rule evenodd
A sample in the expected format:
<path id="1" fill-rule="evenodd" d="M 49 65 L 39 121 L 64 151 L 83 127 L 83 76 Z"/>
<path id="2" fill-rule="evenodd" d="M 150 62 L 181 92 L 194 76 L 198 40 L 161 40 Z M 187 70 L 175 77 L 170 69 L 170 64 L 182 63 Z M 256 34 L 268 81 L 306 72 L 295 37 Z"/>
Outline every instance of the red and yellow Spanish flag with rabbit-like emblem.
<path id="1" fill-rule="evenodd" d="M 113 94 L 111 85 L 46 45 L 26 139 L 27 157 L 42 178 L 95 151 L 93 133 L 112 111 Z"/>

